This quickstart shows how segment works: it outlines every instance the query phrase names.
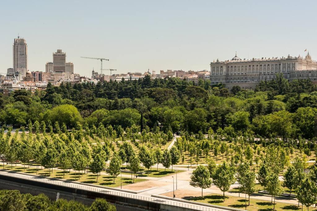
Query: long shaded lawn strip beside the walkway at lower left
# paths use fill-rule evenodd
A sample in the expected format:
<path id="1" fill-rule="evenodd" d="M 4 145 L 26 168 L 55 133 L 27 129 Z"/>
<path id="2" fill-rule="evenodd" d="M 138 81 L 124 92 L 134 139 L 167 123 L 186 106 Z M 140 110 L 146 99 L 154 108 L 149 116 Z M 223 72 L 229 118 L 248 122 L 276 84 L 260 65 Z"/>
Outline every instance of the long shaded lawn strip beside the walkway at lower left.
<path id="1" fill-rule="evenodd" d="M 16 166 L 16 167 L 13 166 L 13 168 L 11 170 L 11 165 L 5 165 L 5 170 L 23 172 L 23 173 L 29 173 L 29 174 L 36 174 L 36 169 L 35 168 L 27 168 L 27 165 L 26 165 L 25 171 L 24 171 L 24 167 L 21 167 L 21 166 Z M 76 182 L 81 182 L 81 183 L 89 183 L 89 184 L 94 184 L 94 185 L 104 185 L 107 187 L 119 187 L 119 186 L 121 186 L 120 175 L 115 178 L 114 184 L 113 184 L 113 177 L 109 176 L 109 175 L 100 175 L 98 177 L 98 182 L 96 181 L 97 178 L 96 178 L 95 174 L 91 174 L 91 173 L 82 174 L 82 173 L 76 172 L 76 175 L 75 175 L 74 171 L 71 171 L 68 174 L 65 173 L 65 176 L 63 177 L 63 171 L 53 170 L 53 172 L 51 171 L 51 175 L 49 176 L 48 169 L 42 169 L 42 170 L 39 169 L 39 171 L 37 172 L 37 175 L 58 178 L 58 179 L 65 179 L 65 180 L 76 181 Z M 79 178 L 79 176 L 80 176 L 80 178 Z M 75 177 L 76 177 L 76 180 L 75 180 Z M 135 178 L 134 183 L 143 182 L 145 180 L 146 179 Z M 122 186 L 132 184 L 132 183 L 133 183 L 133 179 L 131 179 L 129 177 L 122 177 Z"/>

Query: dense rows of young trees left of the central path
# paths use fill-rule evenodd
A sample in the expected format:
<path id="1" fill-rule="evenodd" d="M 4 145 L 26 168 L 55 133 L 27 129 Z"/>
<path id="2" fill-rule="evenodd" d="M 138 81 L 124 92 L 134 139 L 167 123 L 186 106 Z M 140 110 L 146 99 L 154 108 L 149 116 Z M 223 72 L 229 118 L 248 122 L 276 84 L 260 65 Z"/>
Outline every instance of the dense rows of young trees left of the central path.
<path id="1" fill-rule="evenodd" d="M 177 164 L 180 159 L 180 152 L 175 146 L 171 147 L 170 150 L 165 149 L 164 152 L 159 146 L 153 147 L 156 144 L 159 145 L 159 139 L 171 139 L 173 137 L 171 133 L 162 134 L 163 138 L 161 138 L 159 132 L 146 133 L 146 130 L 144 130 L 139 134 L 139 129 L 132 127 L 127 128 L 124 135 L 122 128 L 119 126 L 116 127 L 121 137 L 119 142 L 115 141 L 117 137 L 116 130 L 111 126 L 105 128 L 102 124 L 98 128 L 89 129 L 78 123 L 73 130 L 68 131 L 65 124 L 60 128 L 58 122 L 55 122 L 57 134 L 53 132 L 53 127 L 49 125 L 50 136 L 46 134 L 47 128 L 44 121 L 41 124 L 37 121 L 34 124 L 29 122 L 28 126 L 28 135 L 24 128 L 21 128 L 20 139 L 18 138 L 18 130 L 16 130 L 13 137 L 11 137 L 11 127 L 8 128 L 6 136 L 4 136 L 4 129 L 0 130 L 0 154 L 3 156 L 3 168 L 5 160 L 11 163 L 11 167 L 16 160 L 20 160 L 23 162 L 24 168 L 25 164 L 32 160 L 49 169 L 49 175 L 56 167 L 62 169 L 64 175 L 65 172 L 67 173 L 70 169 L 73 169 L 75 180 L 77 179 L 76 172 L 80 177 L 80 171 L 85 173 L 89 168 L 92 173 L 97 175 L 98 182 L 100 172 L 106 168 L 109 158 L 112 157 L 107 171 L 113 176 L 114 183 L 115 177 L 120 174 L 120 167 L 124 163 L 127 164 L 127 167 L 135 176 L 140 170 L 140 163 L 148 169 L 149 174 L 149 169 L 153 164 L 162 163 L 165 168 L 169 168 L 170 165 Z M 36 138 L 32 139 L 33 128 Z M 43 139 L 40 138 L 40 131 L 42 131 Z M 131 139 L 131 141 L 126 141 L 125 137 Z M 131 143 L 138 149 L 135 150 Z M 136 152 L 138 152 L 138 155 Z M 38 170 L 37 166 L 36 172 Z"/>

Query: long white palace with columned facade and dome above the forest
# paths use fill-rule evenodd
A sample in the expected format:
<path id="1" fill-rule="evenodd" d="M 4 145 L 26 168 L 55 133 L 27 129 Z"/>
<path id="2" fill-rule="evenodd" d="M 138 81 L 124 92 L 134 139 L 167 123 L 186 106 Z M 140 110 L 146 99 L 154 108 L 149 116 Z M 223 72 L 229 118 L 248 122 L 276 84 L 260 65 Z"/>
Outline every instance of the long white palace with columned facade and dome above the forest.
<path id="1" fill-rule="evenodd" d="M 231 89 L 239 85 L 243 89 L 254 89 L 259 81 L 271 80 L 276 73 L 283 73 L 289 81 L 295 78 L 310 78 L 317 82 L 317 62 L 312 60 L 309 52 L 305 58 L 288 57 L 240 59 L 237 54 L 231 60 L 210 63 L 211 84 L 226 84 Z"/>

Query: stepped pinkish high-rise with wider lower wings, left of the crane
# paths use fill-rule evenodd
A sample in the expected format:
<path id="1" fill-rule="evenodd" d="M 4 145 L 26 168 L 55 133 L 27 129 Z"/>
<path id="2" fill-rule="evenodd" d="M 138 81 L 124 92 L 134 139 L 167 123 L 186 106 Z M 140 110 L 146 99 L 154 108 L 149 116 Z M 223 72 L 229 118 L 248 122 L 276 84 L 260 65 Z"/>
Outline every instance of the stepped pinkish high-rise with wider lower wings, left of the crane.
<path id="1" fill-rule="evenodd" d="M 61 49 L 53 53 L 53 62 L 47 62 L 45 65 L 45 72 L 68 72 L 74 73 L 74 64 L 66 62 L 66 53 Z"/>

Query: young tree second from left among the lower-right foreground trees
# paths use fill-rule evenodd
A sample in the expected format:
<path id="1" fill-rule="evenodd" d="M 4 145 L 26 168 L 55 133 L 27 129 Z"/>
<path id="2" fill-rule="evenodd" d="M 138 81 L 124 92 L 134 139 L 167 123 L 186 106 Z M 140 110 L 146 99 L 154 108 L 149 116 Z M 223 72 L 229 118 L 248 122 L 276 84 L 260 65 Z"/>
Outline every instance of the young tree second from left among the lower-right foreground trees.
<path id="1" fill-rule="evenodd" d="M 223 201 L 224 201 L 224 192 L 228 191 L 230 185 L 235 182 L 234 170 L 224 161 L 222 165 L 217 167 L 217 170 L 214 174 L 213 182 L 217 188 L 223 192 Z"/>

